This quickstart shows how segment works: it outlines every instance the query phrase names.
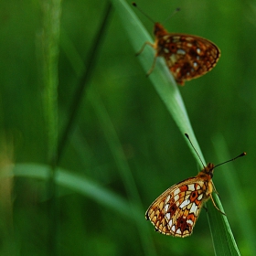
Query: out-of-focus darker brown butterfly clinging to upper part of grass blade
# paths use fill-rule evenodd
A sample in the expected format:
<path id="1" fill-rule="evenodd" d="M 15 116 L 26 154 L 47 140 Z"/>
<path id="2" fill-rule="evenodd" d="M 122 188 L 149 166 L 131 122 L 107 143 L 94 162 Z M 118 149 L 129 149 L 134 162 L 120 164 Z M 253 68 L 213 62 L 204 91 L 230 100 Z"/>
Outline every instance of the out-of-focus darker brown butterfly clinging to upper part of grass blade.
<path id="1" fill-rule="evenodd" d="M 135 3 L 133 5 L 137 7 Z M 142 10 L 140 11 L 142 12 Z M 184 85 L 185 81 L 196 79 L 206 74 L 216 66 L 219 60 L 220 49 L 206 38 L 168 33 L 165 27 L 158 22 L 155 23 L 154 35 L 155 43 L 145 42 L 141 50 L 136 54 L 141 54 L 146 45 L 155 49 L 153 65 L 148 70 L 147 76 L 155 68 L 156 59 L 163 57 L 176 82 Z"/>

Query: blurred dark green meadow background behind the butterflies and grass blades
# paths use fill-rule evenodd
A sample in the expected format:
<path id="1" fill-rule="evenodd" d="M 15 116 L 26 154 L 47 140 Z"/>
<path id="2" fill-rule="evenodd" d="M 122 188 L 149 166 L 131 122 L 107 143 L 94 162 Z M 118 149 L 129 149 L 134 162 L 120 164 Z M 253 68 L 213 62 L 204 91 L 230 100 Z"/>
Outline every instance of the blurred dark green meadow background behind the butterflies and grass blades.
<path id="1" fill-rule="evenodd" d="M 1 1 L 0 163 L 48 164 L 44 114 L 41 33 L 44 1 Z M 59 135 L 69 120 L 107 1 L 63 1 L 59 37 Z M 130 2 L 127 2 L 130 4 Z M 206 37 L 221 50 L 216 68 L 179 87 L 207 161 L 219 164 L 243 151 L 247 156 L 219 167 L 214 182 L 242 255 L 252 255 L 256 172 L 256 3 L 255 1 L 137 1 L 169 32 Z M 152 34 L 153 24 L 134 10 Z M 90 193 L 57 186 L 56 227 L 49 221 L 46 179 L 2 177 L 0 254 L 49 255 L 55 230 L 59 255 L 214 255 L 207 213 L 202 210 L 186 239 L 160 235 L 144 211 L 167 187 L 201 168 L 165 105 L 156 94 L 112 9 L 96 65 L 91 71 L 73 133 L 59 167 L 96 184 L 99 197 L 111 192 L 127 205 L 101 202 Z M 150 68 L 152 63 L 148 63 Z M 235 177 L 229 189 L 231 168 Z M 3 171 L 4 172 L 4 171 Z M 3 173 L 2 172 L 2 173 Z M 95 190 L 93 190 L 95 189 Z M 97 193 L 94 187 L 91 194 Z M 107 194 L 106 194 L 107 195 Z M 240 197 L 238 200 L 237 196 Z M 241 205 L 242 202 L 242 205 Z M 239 206 L 238 206 L 239 204 Z M 119 208 L 120 207 L 120 208 Z M 238 210 L 238 208 L 242 211 Z M 242 219 L 245 225 L 239 225 Z M 252 219 L 252 224 L 251 224 Z M 249 224 L 249 225 L 248 225 Z M 246 226 L 248 225 L 248 226 Z M 241 227 L 242 226 L 242 227 Z M 52 234 L 51 234 L 52 235 Z"/>

